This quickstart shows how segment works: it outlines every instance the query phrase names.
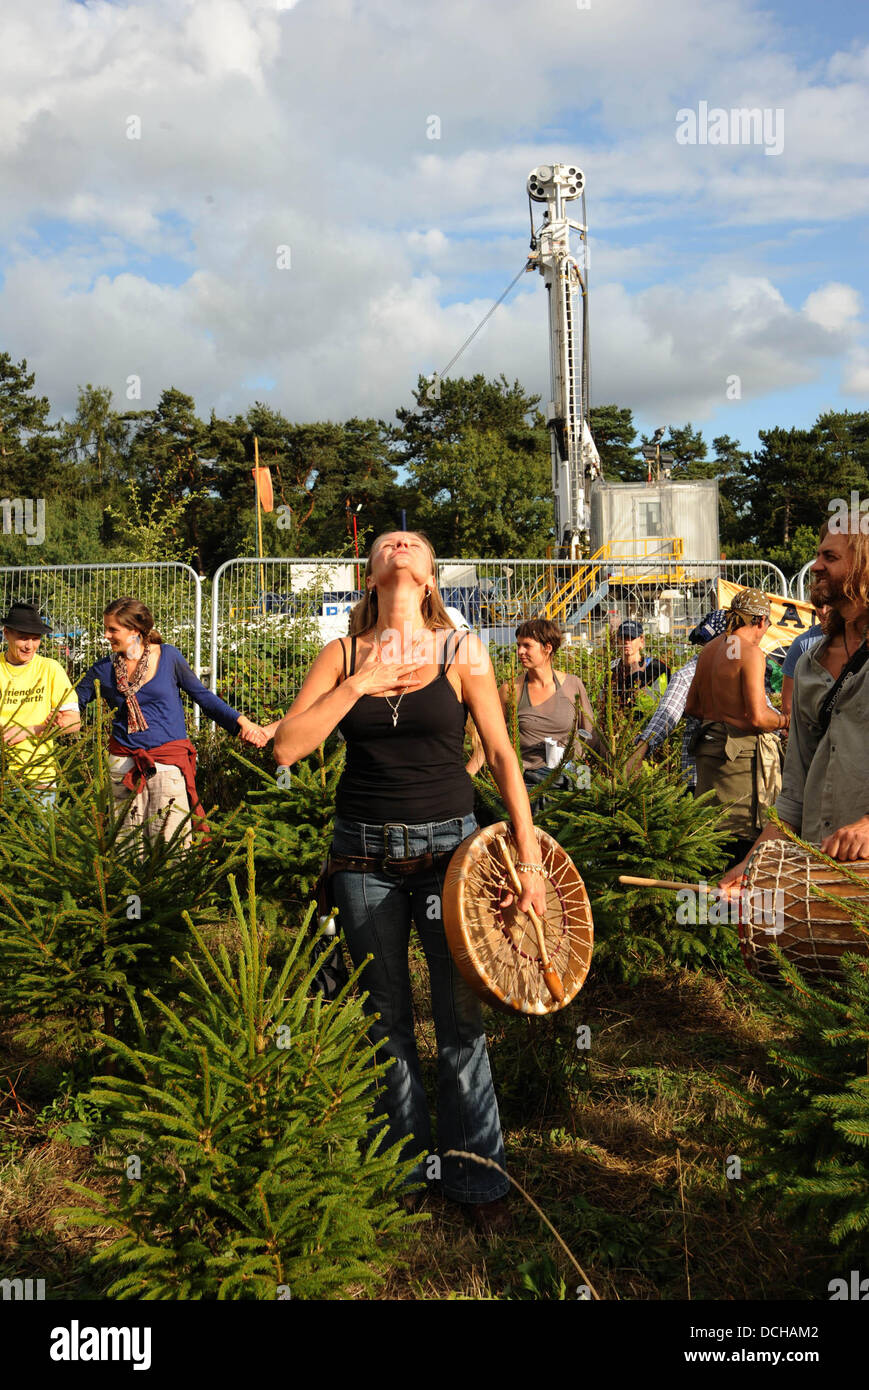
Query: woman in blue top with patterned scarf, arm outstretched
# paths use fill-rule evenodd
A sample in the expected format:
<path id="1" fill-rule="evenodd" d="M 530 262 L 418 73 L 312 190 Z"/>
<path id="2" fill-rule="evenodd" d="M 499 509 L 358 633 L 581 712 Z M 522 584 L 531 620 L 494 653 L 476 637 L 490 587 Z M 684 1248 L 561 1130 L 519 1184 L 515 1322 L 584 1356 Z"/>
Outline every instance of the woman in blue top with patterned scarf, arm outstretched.
<path id="1" fill-rule="evenodd" d="M 189 812 L 207 833 L 196 792 L 196 749 L 186 731 L 181 691 L 186 691 L 221 728 L 257 748 L 268 742 L 259 724 L 225 705 L 193 674 L 177 646 L 164 642 L 150 610 L 139 599 L 115 599 L 103 613 L 111 656 L 82 676 L 78 703 L 96 694 L 117 712 L 108 741 L 111 787 L 120 809 L 135 792 L 129 824 L 170 840 Z M 182 844 L 190 844 L 188 824 Z"/>

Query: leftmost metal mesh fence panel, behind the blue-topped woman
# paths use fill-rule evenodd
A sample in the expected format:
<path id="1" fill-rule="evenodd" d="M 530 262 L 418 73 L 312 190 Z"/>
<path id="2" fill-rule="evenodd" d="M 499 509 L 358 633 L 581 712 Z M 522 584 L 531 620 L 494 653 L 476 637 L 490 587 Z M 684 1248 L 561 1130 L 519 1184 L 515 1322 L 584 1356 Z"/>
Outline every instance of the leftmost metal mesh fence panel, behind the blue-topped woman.
<path id="1" fill-rule="evenodd" d="M 200 676 L 202 581 L 189 564 L 167 560 L 0 567 L 3 613 L 13 602 L 35 603 L 51 628 L 40 653 L 58 660 L 72 681 L 107 655 L 103 610 L 127 594 L 147 605 L 161 637 L 178 646 Z M 199 726 L 199 706 L 193 708 L 193 721 Z"/>

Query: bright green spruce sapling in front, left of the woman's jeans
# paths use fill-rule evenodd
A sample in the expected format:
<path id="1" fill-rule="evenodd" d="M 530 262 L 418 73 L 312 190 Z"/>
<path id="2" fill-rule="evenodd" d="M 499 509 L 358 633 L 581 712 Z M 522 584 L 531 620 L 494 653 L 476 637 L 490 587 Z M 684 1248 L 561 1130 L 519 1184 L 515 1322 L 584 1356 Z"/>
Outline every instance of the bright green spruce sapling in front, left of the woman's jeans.
<path id="1" fill-rule="evenodd" d="M 107 1116 L 99 1172 L 75 1222 L 108 1225 L 95 1258 L 118 1298 L 323 1298 L 377 1277 L 407 1216 L 396 1202 L 413 1161 L 378 1151 L 371 1119 L 381 1072 L 349 986 L 331 1004 L 311 992 L 318 959 L 313 906 L 279 970 L 268 965 L 274 912 L 259 920 L 253 835 L 247 912 L 231 878 L 241 945 L 175 962 L 178 1008 L 160 1006 L 159 1049 L 106 1045 L 129 1079 L 100 1077 Z M 353 976 L 352 983 L 357 976 Z M 181 1008 L 184 1006 L 184 1011 Z"/>

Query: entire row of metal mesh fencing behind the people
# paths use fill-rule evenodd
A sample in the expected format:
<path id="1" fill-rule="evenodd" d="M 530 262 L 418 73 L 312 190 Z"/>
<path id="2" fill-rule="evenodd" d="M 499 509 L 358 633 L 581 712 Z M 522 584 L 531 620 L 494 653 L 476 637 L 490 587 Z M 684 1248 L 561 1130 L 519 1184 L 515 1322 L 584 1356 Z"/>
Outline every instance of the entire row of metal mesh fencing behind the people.
<path id="1" fill-rule="evenodd" d="M 594 685 L 612 659 L 612 638 L 624 619 L 644 624 L 647 652 L 677 667 L 692 652 L 688 632 L 717 606 L 719 578 L 781 595 L 795 584 L 802 598 L 806 570 L 788 587 L 766 560 L 694 562 L 663 555 L 583 562 L 452 559 L 438 563 L 438 587 L 444 602 L 487 644 L 499 674 L 516 624 L 542 614 L 566 634 L 559 664 Z M 0 567 L 0 602 L 6 607 L 15 599 L 36 603 L 51 627 L 43 652 L 78 680 L 106 655 L 103 609 L 132 592 L 211 689 L 253 719 L 267 720 L 292 703 L 320 648 L 346 632 L 362 582 L 362 562 L 228 560 L 211 587 L 207 671 L 200 664 L 203 585 L 188 564 Z M 199 714 L 195 708 L 196 726 Z"/>

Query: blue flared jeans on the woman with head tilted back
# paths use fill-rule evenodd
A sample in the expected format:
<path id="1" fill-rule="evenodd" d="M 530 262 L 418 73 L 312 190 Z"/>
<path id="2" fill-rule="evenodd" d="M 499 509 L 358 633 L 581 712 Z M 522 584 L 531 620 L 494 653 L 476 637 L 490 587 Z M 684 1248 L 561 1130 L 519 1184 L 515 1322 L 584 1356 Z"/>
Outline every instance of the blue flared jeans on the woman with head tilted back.
<path id="1" fill-rule="evenodd" d="M 430 824 L 366 824 L 335 819 L 332 852 L 382 859 L 416 859 L 455 849 L 477 828 L 473 816 Z M 381 1080 L 375 1115 L 388 1120 L 385 1144 L 405 1140 L 403 1156 L 419 1155 L 413 1179 L 439 1173 L 444 1194 L 457 1202 L 503 1197 L 502 1173 L 470 1159 L 448 1159 L 448 1150 L 491 1158 L 505 1168 L 501 1118 L 485 1048 L 480 999 L 464 983 L 446 945 L 441 895 L 446 865 L 406 878 L 388 873 L 339 872 L 332 902 L 353 965 L 367 955 L 360 984 L 367 990 L 368 1036 L 382 1040 L 378 1055 L 391 1056 Z M 431 981 L 431 1009 L 438 1041 L 438 1150 L 432 1165 L 431 1123 L 413 1033 L 407 967 L 410 929 L 416 924 Z M 374 1017 L 380 1015 L 380 1017 Z"/>

